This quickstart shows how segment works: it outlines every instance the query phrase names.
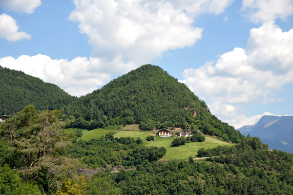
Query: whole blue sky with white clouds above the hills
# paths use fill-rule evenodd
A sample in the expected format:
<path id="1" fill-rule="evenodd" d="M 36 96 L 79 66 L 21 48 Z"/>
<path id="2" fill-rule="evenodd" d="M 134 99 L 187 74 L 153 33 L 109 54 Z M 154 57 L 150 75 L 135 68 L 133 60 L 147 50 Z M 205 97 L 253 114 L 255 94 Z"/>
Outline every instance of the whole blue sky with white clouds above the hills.
<path id="1" fill-rule="evenodd" d="M 293 115 L 293 0 L 0 0 L 0 65 L 74 96 L 141 65 L 235 128 Z"/>

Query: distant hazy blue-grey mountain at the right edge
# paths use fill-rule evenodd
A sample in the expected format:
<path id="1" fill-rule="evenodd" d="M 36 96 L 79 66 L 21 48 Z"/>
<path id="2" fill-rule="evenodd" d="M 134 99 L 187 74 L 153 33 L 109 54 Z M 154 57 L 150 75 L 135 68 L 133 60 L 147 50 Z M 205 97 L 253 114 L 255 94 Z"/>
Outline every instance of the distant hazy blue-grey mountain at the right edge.
<path id="1" fill-rule="evenodd" d="M 270 149 L 293 153 L 293 116 L 263 116 L 256 124 L 238 130 L 259 137 Z"/>

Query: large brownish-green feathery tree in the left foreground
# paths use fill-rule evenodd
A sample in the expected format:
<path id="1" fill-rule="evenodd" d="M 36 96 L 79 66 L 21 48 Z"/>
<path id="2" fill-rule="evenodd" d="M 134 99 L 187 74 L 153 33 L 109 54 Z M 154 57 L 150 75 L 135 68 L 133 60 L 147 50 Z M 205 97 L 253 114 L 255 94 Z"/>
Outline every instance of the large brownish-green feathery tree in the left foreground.
<path id="1" fill-rule="evenodd" d="M 5 162 L 17 169 L 22 179 L 37 181 L 45 192 L 54 190 L 62 177 L 72 177 L 75 173 L 72 169 L 80 164 L 59 156 L 68 139 L 62 134 L 66 123 L 59 116 L 58 110 L 38 114 L 29 105 L 0 124 L 0 134 L 13 151 Z"/>

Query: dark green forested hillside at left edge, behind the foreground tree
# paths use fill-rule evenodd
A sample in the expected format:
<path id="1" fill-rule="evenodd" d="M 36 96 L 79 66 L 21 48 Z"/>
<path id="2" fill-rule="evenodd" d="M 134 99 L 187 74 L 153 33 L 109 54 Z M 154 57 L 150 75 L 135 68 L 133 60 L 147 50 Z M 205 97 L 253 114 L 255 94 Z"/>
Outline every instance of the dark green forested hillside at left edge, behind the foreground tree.
<path id="1" fill-rule="evenodd" d="M 74 97 L 54 84 L 0 66 L 0 115 L 14 115 L 32 104 L 38 110 L 61 109 Z"/>

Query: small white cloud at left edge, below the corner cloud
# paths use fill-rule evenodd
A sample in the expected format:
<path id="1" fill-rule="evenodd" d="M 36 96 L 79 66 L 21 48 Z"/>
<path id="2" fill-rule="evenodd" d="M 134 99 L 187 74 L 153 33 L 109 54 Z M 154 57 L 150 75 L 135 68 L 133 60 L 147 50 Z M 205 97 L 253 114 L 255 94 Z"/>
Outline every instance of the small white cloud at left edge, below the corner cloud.
<path id="1" fill-rule="evenodd" d="M 26 32 L 19 32 L 18 30 L 19 26 L 14 18 L 5 13 L 0 15 L 0 38 L 7 39 L 10 42 L 31 38 Z"/>

